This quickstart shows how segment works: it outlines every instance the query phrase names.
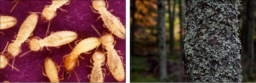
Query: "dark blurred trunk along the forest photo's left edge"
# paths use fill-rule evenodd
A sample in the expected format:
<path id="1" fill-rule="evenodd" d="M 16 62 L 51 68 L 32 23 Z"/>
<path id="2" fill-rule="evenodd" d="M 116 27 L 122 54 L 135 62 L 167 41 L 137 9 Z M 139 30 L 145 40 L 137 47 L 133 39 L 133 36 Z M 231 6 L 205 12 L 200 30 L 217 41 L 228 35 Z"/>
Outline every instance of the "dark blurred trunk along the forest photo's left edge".
<path id="1" fill-rule="evenodd" d="M 135 26 L 135 18 L 134 18 L 134 15 L 135 15 L 135 2 L 136 2 L 136 0 L 133 0 L 133 8 L 132 8 L 132 19 L 133 19 L 133 21 L 132 21 L 132 32 L 131 32 L 131 55 L 134 55 L 134 26 Z"/>

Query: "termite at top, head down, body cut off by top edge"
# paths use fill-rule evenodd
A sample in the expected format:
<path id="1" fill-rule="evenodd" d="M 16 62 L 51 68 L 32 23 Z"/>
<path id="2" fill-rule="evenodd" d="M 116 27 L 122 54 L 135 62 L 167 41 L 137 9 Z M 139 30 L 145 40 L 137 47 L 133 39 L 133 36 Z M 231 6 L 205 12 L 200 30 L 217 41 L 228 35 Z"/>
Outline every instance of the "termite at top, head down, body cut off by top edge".
<path id="1" fill-rule="evenodd" d="M 61 9 L 60 7 L 62 5 L 69 5 L 69 3 L 67 2 L 70 2 L 69 0 L 55 0 L 52 2 L 52 5 L 46 5 L 45 6 L 45 9 L 42 11 L 42 13 L 39 13 L 39 12 L 28 12 L 28 13 L 35 13 L 35 14 L 42 14 L 41 15 L 41 19 L 43 20 L 46 20 L 45 22 L 48 22 L 49 21 L 49 24 L 48 24 L 48 29 L 46 31 L 46 37 L 47 37 L 47 33 L 49 34 L 49 27 L 50 27 L 50 22 L 51 20 L 56 16 L 56 10 L 57 8 L 59 8 L 60 10 L 62 11 L 66 11 L 68 13 L 67 10 L 63 10 Z"/>

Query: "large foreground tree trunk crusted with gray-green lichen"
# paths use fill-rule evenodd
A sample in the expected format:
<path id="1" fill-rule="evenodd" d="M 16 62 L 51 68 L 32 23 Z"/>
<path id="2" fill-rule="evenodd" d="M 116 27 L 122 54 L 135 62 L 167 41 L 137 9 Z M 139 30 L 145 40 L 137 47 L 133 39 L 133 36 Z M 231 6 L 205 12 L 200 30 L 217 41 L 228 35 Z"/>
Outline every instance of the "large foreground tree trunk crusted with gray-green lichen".
<path id="1" fill-rule="evenodd" d="M 240 1 L 185 1 L 187 82 L 242 82 Z"/>

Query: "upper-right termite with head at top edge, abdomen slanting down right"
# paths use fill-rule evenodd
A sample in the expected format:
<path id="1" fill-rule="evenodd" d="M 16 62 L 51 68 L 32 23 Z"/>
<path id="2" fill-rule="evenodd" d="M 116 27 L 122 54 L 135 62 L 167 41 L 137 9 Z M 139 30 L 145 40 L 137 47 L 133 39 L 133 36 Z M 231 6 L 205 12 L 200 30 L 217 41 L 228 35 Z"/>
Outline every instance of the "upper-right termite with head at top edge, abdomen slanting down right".
<path id="1" fill-rule="evenodd" d="M 106 1 L 107 3 L 107 1 Z M 117 37 L 125 39 L 125 28 L 120 22 L 120 19 L 118 17 L 113 16 L 110 12 L 113 10 L 107 11 L 108 8 L 108 3 L 107 3 L 107 8 L 105 8 L 106 3 L 101 0 L 101 1 L 96 1 L 94 0 L 92 2 L 92 7 L 97 10 L 98 12 L 92 11 L 97 14 L 101 14 L 100 17 L 104 21 L 103 26 L 108 28 L 113 34 L 115 34 Z M 98 19 L 100 18 L 98 17 Z M 96 20 L 97 21 L 97 20 Z"/>

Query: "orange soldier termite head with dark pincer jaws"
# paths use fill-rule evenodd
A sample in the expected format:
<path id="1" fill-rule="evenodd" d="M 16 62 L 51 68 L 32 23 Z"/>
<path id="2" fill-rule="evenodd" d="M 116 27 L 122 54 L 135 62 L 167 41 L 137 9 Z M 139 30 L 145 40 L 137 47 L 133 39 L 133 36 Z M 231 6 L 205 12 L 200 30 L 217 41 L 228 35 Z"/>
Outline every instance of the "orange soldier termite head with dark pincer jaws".
<path id="1" fill-rule="evenodd" d="M 73 70 L 75 66 L 76 66 L 76 58 L 72 56 L 66 57 L 64 61 L 64 67 L 65 67 L 64 78 L 65 79 L 70 75 L 71 70 Z M 66 73 L 67 73 L 67 77 L 65 77 Z"/>

